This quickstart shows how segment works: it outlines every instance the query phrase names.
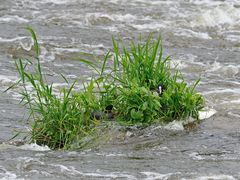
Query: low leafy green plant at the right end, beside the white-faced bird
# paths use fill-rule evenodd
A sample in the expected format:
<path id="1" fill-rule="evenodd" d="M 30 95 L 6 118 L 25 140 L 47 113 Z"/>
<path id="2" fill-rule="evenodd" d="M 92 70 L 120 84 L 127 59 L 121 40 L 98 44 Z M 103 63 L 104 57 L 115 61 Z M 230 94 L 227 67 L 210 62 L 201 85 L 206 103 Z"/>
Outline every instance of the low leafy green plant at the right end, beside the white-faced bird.
<path id="1" fill-rule="evenodd" d="M 188 117 L 198 119 L 198 113 L 204 107 L 203 96 L 194 90 L 198 82 L 188 87 L 186 82 L 173 79 L 160 99 L 162 108 L 159 112 L 164 121 L 185 120 Z"/>

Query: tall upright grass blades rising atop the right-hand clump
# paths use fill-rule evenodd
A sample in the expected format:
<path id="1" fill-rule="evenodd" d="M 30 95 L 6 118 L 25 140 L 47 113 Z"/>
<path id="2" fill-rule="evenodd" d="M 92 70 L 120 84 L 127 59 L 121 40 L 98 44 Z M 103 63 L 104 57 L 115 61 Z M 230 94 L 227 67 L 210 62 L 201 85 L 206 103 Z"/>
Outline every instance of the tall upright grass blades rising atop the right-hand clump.
<path id="1" fill-rule="evenodd" d="M 130 50 L 122 44 L 122 54 L 115 39 L 114 47 L 114 78 L 124 85 L 136 83 L 138 86 L 157 88 L 167 84 L 170 78 L 170 57 L 163 58 L 160 36 L 156 41 L 152 35 L 143 44 L 131 42 Z"/>

